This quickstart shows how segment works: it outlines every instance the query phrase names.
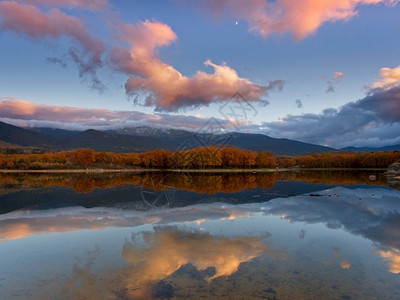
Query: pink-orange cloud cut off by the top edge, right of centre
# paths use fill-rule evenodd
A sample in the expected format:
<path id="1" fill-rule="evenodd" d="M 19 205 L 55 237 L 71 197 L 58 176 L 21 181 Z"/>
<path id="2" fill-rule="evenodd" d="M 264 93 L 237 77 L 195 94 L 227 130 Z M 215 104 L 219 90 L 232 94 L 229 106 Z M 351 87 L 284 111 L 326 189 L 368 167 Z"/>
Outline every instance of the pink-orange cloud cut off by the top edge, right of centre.
<path id="1" fill-rule="evenodd" d="M 351 19 L 357 15 L 358 5 L 394 5 L 397 2 L 398 0 L 203 0 L 203 6 L 214 15 L 229 13 L 236 19 L 246 20 L 249 30 L 263 37 L 289 32 L 296 39 L 304 39 L 326 22 Z"/>

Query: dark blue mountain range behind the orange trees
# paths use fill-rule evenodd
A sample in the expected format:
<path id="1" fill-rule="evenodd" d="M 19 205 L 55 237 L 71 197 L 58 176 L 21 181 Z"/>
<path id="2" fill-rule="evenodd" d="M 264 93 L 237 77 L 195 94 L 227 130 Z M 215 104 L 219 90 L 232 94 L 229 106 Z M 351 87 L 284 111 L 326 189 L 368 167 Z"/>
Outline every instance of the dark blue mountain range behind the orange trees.
<path id="1" fill-rule="evenodd" d="M 0 148 L 39 148 L 45 150 L 72 150 L 91 148 L 95 151 L 145 152 L 154 149 L 170 151 L 211 146 L 231 146 L 252 151 L 272 151 L 277 155 L 322 153 L 336 149 L 277 139 L 251 133 L 195 133 L 186 130 L 153 128 L 148 126 L 99 131 L 71 131 L 53 128 L 21 128 L 0 122 Z M 400 149 L 400 147 L 398 148 Z M 393 149 L 397 150 L 397 149 Z M 368 151 L 348 149 L 348 151 Z"/>

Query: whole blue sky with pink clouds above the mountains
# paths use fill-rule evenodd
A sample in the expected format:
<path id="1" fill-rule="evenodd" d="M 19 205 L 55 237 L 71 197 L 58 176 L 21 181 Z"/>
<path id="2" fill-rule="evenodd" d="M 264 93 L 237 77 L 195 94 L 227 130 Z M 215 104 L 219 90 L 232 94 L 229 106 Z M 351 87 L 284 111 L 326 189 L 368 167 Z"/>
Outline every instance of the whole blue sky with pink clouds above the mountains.
<path id="1" fill-rule="evenodd" d="M 0 1 L 0 120 L 400 144 L 398 0 Z"/>

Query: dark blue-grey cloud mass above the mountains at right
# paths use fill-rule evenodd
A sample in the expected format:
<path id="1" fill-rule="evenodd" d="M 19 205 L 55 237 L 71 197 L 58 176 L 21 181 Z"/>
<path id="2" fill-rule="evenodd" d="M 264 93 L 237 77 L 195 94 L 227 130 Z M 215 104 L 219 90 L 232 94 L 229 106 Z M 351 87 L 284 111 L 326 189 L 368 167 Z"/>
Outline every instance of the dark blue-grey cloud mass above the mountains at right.
<path id="1" fill-rule="evenodd" d="M 363 99 L 320 114 L 288 115 L 264 123 L 262 131 L 333 147 L 395 144 L 400 142 L 400 87 L 371 90 Z"/>

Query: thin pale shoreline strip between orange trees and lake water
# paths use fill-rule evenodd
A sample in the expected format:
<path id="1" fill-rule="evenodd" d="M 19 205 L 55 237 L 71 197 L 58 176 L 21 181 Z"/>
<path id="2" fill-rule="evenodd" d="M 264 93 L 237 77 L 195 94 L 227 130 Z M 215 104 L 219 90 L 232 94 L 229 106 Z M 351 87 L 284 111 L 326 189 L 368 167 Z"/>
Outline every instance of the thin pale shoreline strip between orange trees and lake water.
<path id="1" fill-rule="evenodd" d="M 296 171 L 386 171 L 385 168 L 264 168 L 264 169 L 48 169 L 48 170 L 8 170 L 0 169 L 3 173 L 39 173 L 39 174 L 101 174 L 101 173 L 273 173 Z M 400 179 L 400 177 L 395 177 Z"/>

